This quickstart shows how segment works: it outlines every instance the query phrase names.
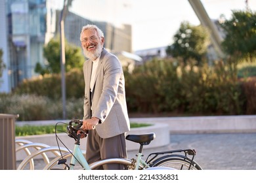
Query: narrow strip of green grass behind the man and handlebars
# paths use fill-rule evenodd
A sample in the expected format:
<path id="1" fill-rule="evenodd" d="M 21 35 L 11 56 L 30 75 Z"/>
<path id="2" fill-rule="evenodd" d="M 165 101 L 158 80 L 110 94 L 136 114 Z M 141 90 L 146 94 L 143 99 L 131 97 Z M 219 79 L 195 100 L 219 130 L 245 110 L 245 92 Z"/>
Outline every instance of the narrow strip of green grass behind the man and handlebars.
<path id="1" fill-rule="evenodd" d="M 131 123 L 131 128 L 133 127 L 146 127 L 152 124 L 138 124 Z M 66 132 L 65 124 L 57 125 L 56 132 L 63 133 Z M 55 133 L 55 125 L 23 125 L 15 127 L 15 135 L 16 137 L 20 136 L 28 136 L 28 135 L 42 135 L 42 134 L 50 134 Z"/>

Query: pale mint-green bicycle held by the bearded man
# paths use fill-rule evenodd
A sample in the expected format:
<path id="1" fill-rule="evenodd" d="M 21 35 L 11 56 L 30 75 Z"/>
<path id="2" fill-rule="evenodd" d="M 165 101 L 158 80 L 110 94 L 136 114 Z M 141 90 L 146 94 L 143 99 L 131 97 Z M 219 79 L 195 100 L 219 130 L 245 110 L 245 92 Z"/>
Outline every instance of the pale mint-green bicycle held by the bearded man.
<path id="1" fill-rule="evenodd" d="M 58 122 L 57 124 L 59 124 Z M 57 129 L 55 125 L 55 135 L 56 141 L 58 144 L 58 135 L 56 133 Z M 63 123 L 65 124 L 65 123 Z M 153 152 L 148 155 L 146 160 L 142 159 L 142 149 L 144 145 L 150 144 L 156 138 L 155 133 L 146 133 L 142 135 L 127 135 L 125 139 L 127 141 L 133 141 L 140 144 L 139 152 L 136 155 L 137 158 L 127 159 L 127 158 L 110 158 L 110 159 L 102 159 L 100 161 L 96 161 L 95 163 L 91 163 L 89 165 L 85 159 L 85 151 L 82 151 L 79 148 L 81 134 L 77 134 L 77 131 L 80 130 L 85 133 L 85 137 L 87 136 L 88 131 L 83 131 L 81 129 L 81 125 L 83 125 L 82 120 L 71 120 L 69 124 L 67 124 L 67 133 L 68 136 L 75 140 L 74 150 L 68 150 L 66 154 L 62 154 L 60 151 L 60 156 L 54 158 L 44 169 L 58 169 L 54 168 L 56 164 L 64 166 L 62 169 L 65 170 L 73 170 L 75 165 L 81 165 L 81 169 L 92 170 L 96 169 L 96 167 L 108 164 L 108 163 L 119 163 L 125 165 L 128 170 L 150 170 L 150 169 L 188 169 L 188 170 L 202 170 L 202 167 L 194 161 L 194 156 L 196 155 L 195 150 L 184 149 L 184 150 L 170 150 L 165 152 Z M 62 143 L 64 145 L 64 143 Z M 65 145 L 64 145 L 65 146 Z M 58 147 L 59 144 L 58 144 Z M 66 147 L 66 146 L 65 146 Z M 68 148 L 67 148 L 68 149 Z M 192 158 L 188 157 L 191 156 Z M 67 163 L 67 158 L 70 159 L 70 164 Z"/>

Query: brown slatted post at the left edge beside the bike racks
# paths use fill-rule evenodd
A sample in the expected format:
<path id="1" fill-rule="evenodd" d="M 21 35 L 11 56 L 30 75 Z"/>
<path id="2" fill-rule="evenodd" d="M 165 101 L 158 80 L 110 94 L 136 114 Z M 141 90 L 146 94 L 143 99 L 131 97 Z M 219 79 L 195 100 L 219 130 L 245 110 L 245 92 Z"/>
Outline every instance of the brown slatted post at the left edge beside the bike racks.
<path id="1" fill-rule="evenodd" d="M 0 170 L 16 170 L 16 118 L 18 115 L 0 114 Z"/>

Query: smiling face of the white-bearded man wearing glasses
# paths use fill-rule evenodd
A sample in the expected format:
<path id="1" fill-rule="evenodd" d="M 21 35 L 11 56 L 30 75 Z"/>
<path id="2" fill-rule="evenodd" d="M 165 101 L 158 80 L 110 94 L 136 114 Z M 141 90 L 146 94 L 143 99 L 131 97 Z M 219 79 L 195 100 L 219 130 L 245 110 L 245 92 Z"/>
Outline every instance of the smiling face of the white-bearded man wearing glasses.
<path id="1" fill-rule="evenodd" d="M 95 60 L 100 56 L 104 44 L 104 37 L 98 37 L 96 29 L 85 29 L 81 33 L 81 46 L 85 57 Z"/>

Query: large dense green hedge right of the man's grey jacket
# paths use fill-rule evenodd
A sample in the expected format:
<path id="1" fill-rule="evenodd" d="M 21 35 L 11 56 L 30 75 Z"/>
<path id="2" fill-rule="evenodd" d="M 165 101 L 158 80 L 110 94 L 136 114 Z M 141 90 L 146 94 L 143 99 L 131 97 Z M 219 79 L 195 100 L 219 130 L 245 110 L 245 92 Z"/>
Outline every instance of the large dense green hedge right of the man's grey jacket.
<path id="1" fill-rule="evenodd" d="M 243 114 L 245 95 L 235 71 L 219 61 L 209 67 L 157 60 L 125 77 L 131 111 L 182 114 Z"/>

